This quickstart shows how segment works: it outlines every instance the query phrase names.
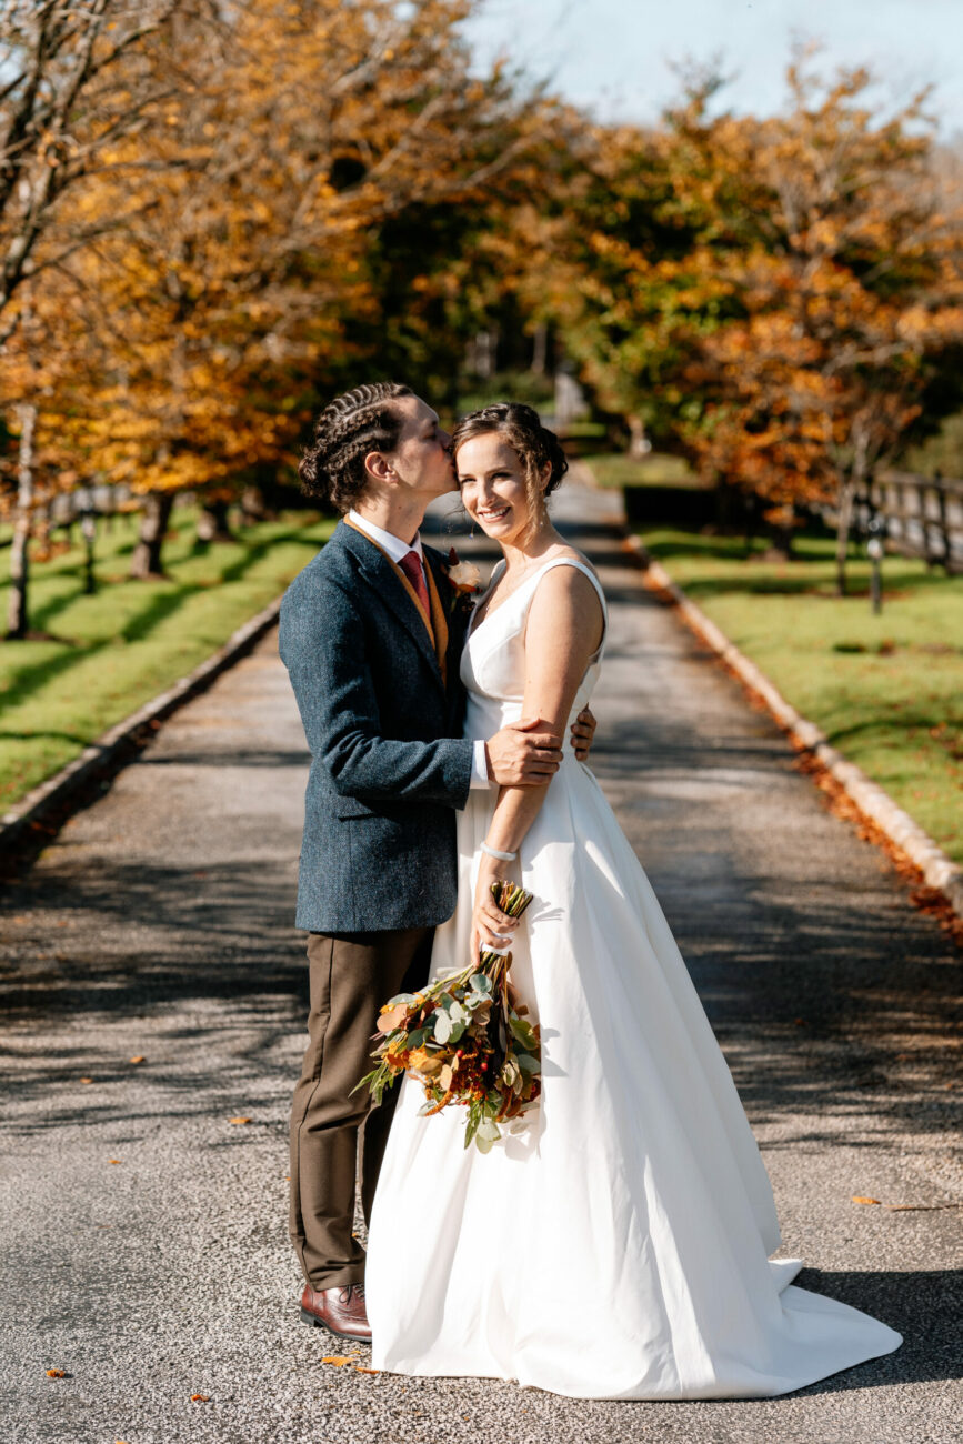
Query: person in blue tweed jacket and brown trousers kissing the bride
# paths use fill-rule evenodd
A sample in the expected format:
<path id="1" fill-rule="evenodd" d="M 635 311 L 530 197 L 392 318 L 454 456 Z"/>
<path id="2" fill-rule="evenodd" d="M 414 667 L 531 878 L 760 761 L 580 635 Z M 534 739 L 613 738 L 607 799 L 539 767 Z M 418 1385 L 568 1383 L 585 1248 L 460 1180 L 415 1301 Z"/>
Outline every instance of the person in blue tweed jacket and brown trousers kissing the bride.
<path id="1" fill-rule="evenodd" d="M 458 669 L 468 608 L 422 546 L 427 504 L 455 490 L 449 436 L 409 387 L 360 386 L 318 419 L 300 477 L 342 514 L 292 582 L 280 654 L 312 752 L 297 890 L 310 933 L 309 1044 L 290 1121 L 290 1236 L 305 1274 L 302 1317 L 370 1339 L 364 1251 L 394 1093 L 371 1110 L 352 1092 L 371 1067 L 380 1005 L 427 979 L 436 924 L 455 911 L 455 813 L 471 787 L 539 786 L 560 739 L 537 719 L 465 741 Z M 573 728 L 586 755 L 595 721 Z M 497 930 L 517 918 L 491 904 Z"/>

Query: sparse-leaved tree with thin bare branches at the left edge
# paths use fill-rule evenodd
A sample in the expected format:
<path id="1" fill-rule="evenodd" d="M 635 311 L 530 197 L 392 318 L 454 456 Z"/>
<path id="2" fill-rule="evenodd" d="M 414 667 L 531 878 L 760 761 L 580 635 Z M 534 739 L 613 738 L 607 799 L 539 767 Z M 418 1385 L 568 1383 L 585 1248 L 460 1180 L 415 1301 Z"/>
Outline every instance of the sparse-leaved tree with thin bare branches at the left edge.
<path id="1" fill-rule="evenodd" d="M 16 495 L 10 637 L 27 630 L 42 412 L 30 387 L 43 370 L 35 342 L 17 331 L 39 325 L 46 348 L 62 349 L 46 287 L 128 209 L 84 215 L 72 199 L 111 166 L 111 147 L 149 123 L 165 87 L 146 84 L 144 46 L 179 9 L 182 0 L 0 3 L 0 404 L 16 436 L 16 453 L 6 448 L 0 472 L 0 510 L 4 484 Z M 43 391 L 51 391 L 49 377 Z"/>

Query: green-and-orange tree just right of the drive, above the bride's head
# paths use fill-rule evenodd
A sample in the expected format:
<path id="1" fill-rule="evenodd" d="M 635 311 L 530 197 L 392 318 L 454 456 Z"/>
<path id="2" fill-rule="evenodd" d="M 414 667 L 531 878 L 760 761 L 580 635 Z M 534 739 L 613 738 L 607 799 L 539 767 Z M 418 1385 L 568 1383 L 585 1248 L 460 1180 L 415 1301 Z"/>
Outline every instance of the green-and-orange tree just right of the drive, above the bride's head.
<path id="1" fill-rule="evenodd" d="M 647 433 L 683 445 L 702 410 L 690 364 L 739 313 L 726 263 L 751 244 L 758 195 L 738 126 L 707 118 L 716 88 L 694 75 L 657 127 L 576 131 L 554 199 L 523 218 L 527 303 L 637 451 Z"/>

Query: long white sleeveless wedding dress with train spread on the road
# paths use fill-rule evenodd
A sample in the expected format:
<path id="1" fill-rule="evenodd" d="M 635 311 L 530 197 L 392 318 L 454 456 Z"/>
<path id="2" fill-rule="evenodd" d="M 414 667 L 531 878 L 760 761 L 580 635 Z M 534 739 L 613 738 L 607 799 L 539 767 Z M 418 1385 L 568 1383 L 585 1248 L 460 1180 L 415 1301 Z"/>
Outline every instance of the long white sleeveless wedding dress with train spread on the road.
<path id="1" fill-rule="evenodd" d="M 559 565 L 580 566 L 547 562 L 469 634 L 468 736 L 521 715 L 526 617 Z M 465 965 L 494 804 L 475 790 L 459 814 L 459 902 L 433 976 Z M 768 1259 L 772 1191 L 735 1084 L 648 879 L 569 747 L 520 864 L 534 901 L 511 978 L 541 1024 L 541 1099 L 482 1155 L 462 1147 L 462 1109 L 419 1118 L 423 1090 L 404 1079 L 367 1256 L 372 1366 L 709 1399 L 787 1393 L 897 1349 L 892 1328 L 796 1288 L 800 1261 Z"/>

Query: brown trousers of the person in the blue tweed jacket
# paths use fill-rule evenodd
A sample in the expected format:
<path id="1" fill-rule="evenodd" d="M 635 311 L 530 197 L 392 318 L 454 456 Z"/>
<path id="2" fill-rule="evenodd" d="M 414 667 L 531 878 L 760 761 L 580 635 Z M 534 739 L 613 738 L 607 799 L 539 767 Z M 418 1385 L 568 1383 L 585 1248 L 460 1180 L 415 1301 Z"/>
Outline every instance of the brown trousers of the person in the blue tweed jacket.
<path id="1" fill-rule="evenodd" d="M 354 1238 L 355 1180 L 360 1171 L 367 1223 L 398 1084 L 377 1109 L 367 1089 L 351 1090 L 374 1067 L 371 1034 L 381 1004 L 424 986 L 433 934 L 432 927 L 409 927 L 312 933 L 308 941 L 309 1043 L 290 1116 L 290 1238 L 312 1288 L 364 1279 L 364 1249 Z"/>

